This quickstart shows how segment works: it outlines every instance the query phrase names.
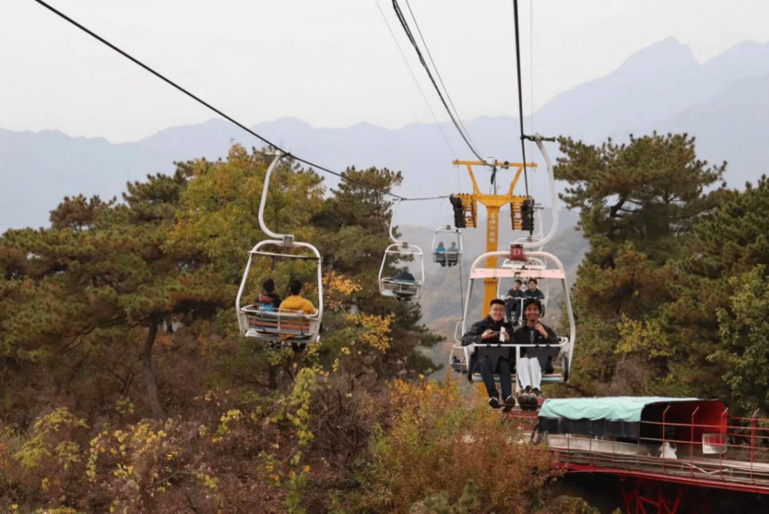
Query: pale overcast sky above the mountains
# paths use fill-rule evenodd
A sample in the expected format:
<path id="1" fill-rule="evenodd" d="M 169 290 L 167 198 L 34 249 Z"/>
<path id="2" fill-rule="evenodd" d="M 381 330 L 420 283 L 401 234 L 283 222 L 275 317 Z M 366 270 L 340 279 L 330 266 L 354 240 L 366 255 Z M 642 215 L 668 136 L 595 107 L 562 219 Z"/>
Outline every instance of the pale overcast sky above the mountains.
<path id="1" fill-rule="evenodd" d="M 48 2 L 248 126 L 448 121 L 391 0 Z M 769 41 L 767 0 L 518 4 L 524 114 L 671 36 L 701 63 Z M 517 115 L 512 0 L 410 6 L 461 119 Z M 0 2 L 0 48 L 0 128 L 119 143 L 216 116 L 34 0 Z"/>

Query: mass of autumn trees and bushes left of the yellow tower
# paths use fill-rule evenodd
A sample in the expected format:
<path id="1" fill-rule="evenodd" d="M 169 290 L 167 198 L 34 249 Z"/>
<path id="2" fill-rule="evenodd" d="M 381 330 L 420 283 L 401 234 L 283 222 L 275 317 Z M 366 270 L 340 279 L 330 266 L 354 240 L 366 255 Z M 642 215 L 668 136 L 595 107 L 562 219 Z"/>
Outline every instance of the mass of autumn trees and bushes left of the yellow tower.
<path id="1" fill-rule="evenodd" d="M 327 192 L 294 163 L 275 171 L 265 220 L 318 246 L 324 331 L 299 353 L 240 337 L 270 160 L 235 145 L 3 234 L 0 509 L 578 512 L 545 505 L 545 449 L 457 383 L 421 378 L 435 364 L 418 349 L 440 338 L 418 303 L 378 293 L 391 204 L 361 186 L 388 191 L 399 173 L 350 168 Z M 312 261 L 258 262 L 245 297 L 266 277 L 318 300 Z"/>

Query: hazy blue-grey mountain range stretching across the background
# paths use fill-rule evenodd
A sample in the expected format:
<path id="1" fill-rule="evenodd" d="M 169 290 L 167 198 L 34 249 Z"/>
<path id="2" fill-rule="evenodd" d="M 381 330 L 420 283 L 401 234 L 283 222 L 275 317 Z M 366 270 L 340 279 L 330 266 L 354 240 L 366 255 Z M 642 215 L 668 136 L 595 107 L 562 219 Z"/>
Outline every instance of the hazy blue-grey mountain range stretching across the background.
<path id="1" fill-rule="evenodd" d="M 589 58 L 587 56 L 586 58 Z M 631 55 L 604 78 L 565 91 L 534 114 L 534 130 L 544 135 L 571 135 L 589 143 L 609 136 L 620 141 L 629 133 L 686 131 L 697 136 L 697 154 L 714 163 L 728 161 L 727 182 L 742 187 L 765 172 L 764 148 L 769 134 L 769 44 L 737 45 L 700 65 L 691 50 L 674 38 Z M 529 119 L 525 126 L 529 127 Z M 484 117 L 466 121 L 471 138 L 484 155 L 501 160 L 521 158 L 518 119 Z M 403 171 L 400 193 L 424 197 L 468 191 L 464 170 L 454 158 L 471 154 L 450 124 L 411 124 L 398 130 L 361 123 L 349 128 L 313 128 L 295 118 L 253 127 L 258 134 L 308 161 L 343 171 L 345 167 L 389 167 Z M 232 141 L 261 146 L 227 121 L 168 128 L 134 143 L 69 138 L 60 131 L 12 132 L 0 129 L 0 232 L 13 227 L 48 225 L 48 212 L 65 196 L 118 196 L 126 181 L 174 171 L 174 161 L 225 157 Z M 455 154 L 454 154 L 455 152 Z M 551 153 L 557 148 L 551 145 Z M 527 147 L 527 160 L 539 161 Z M 478 176 L 488 187 L 488 172 Z M 505 175 L 501 176 L 504 181 Z M 549 204 L 541 168 L 530 172 L 530 191 Z M 334 186 L 338 179 L 327 177 Z M 523 191 L 523 184 L 518 191 Z M 441 213 L 440 220 L 438 220 Z M 451 220 L 448 204 L 404 204 L 398 217 L 410 224 L 433 226 Z"/>

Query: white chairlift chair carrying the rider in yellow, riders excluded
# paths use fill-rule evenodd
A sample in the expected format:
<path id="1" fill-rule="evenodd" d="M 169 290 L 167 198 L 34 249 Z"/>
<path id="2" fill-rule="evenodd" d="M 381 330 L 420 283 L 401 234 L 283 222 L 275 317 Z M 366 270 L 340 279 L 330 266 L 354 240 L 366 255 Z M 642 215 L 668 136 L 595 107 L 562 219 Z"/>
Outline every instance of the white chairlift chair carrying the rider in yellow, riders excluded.
<path id="1" fill-rule="evenodd" d="M 255 339 L 271 346 L 284 343 L 317 343 L 320 340 L 320 327 L 323 318 L 323 282 L 321 274 L 321 254 L 318 249 L 309 243 L 301 243 L 294 240 L 291 234 L 275 234 L 271 232 L 264 221 L 265 203 L 269 187 L 270 176 L 283 154 L 278 154 L 272 161 L 265 174 L 265 185 L 261 194 L 259 206 L 259 226 L 269 237 L 260 241 L 248 252 L 248 264 L 246 264 L 243 279 L 238 288 L 238 297 L 235 299 L 235 309 L 238 313 L 238 327 L 244 337 Z M 270 247 L 277 247 L 275 251 L 268 251 Z M 296 248 L 305 249 L 303 254 L 291 253 Z M 251 303 L 241 305 L 243 293 L 248 283 L 248 274 L 251 265 L 258 259 L 301 259 L 315 260 L 317 263 L 318 280 L 318 308 L 315 313 L 305 313 L 296 310 L 278 309 L 272 310 Z"/>

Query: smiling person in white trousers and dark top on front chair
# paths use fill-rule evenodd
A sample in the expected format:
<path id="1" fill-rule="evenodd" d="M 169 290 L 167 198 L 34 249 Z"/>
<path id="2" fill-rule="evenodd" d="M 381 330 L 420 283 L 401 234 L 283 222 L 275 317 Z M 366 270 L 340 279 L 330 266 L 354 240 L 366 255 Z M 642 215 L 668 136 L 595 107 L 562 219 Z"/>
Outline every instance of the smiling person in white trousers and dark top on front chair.
<path id="1" fill-rule="evenodd" d="M 553 330 L 540 322 L 542 302 L 536 298 L 524 303 L 526 323 L 515 331 L 515 344 L 554 344 L 558 337 Z M 542 396 L 542 366 L 537 357 L 526 356 L 527 348 L 521 348 L 521 359 L 515 366 L 518 383 L 521 384 L 521 394 L 518 404 L 521 406 L 537 405 L 537 398 Z M 548 371 L 548 370 L 545 370 Z"/>

